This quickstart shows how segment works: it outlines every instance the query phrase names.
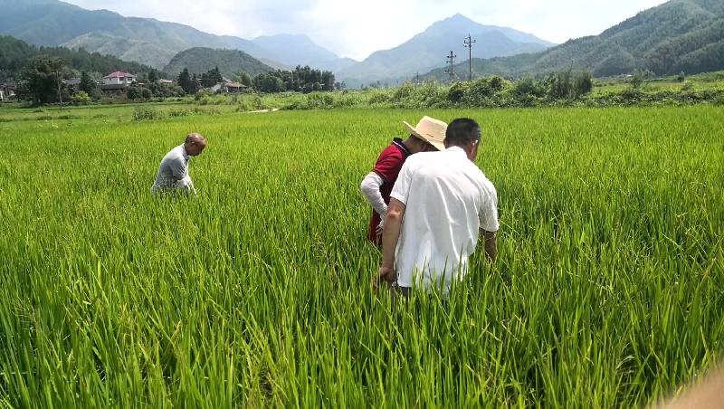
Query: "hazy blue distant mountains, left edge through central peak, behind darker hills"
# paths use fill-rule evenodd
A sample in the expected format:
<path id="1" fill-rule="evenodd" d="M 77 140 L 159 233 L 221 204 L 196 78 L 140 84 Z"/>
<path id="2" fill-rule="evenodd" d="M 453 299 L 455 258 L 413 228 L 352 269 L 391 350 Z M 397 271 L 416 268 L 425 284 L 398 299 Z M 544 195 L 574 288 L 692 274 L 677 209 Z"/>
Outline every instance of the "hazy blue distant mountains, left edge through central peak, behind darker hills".
<path id="1" fill-rule="evenodd" d="M 496 57 L 536 52 L 553 45 L 507 27 L 481 25 L 456 14 L 391 50 L 365 61 L 340 58 L 304 34 L 278 34 L 252 40 L 214 35 L 184 24 L 124 17 L 108 10 L 85 10 L 58 0 L 0 0 L 5 24 L 0 34 L 35 45 L 83 48 L 163 69 L 179 52 L 195 47 L 239 50 L 273 69 L 296 65 L 333 71 L 339 80 L 376 81 L 412 76 L 444 62 L 447 52 L 463 52 L 462 37 L 477 37 L 473 56 Z M 461 54 L 462 55 L 462 54 Z"/>

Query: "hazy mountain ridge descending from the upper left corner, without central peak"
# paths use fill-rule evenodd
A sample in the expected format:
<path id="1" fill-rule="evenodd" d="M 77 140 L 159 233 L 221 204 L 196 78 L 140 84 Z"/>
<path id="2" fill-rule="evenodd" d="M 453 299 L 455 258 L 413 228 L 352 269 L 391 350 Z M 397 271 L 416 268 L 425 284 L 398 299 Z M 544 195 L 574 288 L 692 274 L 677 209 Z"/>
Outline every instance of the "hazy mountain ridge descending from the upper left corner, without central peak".
<path id="1" fill-rule="evenodd" d="M 314 62 L 318 68 L 338 70 L 350 63 L 303 34 L 245 40 L 204 33 L 184 24 L 124 17 L 108 10 L 86 10 L 58 0 L 0 0 L 0 10 L 0 34 L 35 45 L 61 45 L 112 54 L 157 69 L 164 68 L 178 52 L 194 47 L 240 50 L 272 68 Z"/>

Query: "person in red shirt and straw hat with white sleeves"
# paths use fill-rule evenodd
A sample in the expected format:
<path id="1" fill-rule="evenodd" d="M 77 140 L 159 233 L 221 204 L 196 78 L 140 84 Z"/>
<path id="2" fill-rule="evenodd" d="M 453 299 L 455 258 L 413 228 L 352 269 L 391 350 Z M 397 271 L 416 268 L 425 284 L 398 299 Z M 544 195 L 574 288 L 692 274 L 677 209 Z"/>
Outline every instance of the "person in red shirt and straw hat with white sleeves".
<path id="1" fill-rule="evenodd" d="M 382 244 L 382 227 L 385 225 L 390 193 L 392 193 L 392 187 L 395 185 L 405 159 L 418 152 L 445 149 L 443 140 L 447 124 L 442 120 L 423 117 L 416 127 L 405 121 L 403 123 L 410 132 L 410 136 L 405 140 L 395 138 L 392 144 L 377 157 L 375 167 L 365 176 L 359 186 L 362 189 L 362 195 L 372 205 L 367 239 L 377 246 Z"/>

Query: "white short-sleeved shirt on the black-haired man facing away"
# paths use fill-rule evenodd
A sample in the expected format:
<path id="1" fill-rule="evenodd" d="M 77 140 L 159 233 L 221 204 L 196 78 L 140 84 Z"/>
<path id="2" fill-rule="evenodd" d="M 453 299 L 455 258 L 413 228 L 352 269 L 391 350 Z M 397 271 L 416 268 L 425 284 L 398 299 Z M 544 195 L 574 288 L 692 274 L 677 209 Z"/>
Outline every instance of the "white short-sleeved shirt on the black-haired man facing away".
<path id="1" fill-rule="evenodd" d="M 497 232 L 498 194 L 461 147 L 408 157 L 391 197 L 405 204 L 397 283 L 437 284 L 447 293 L 467 272 L 480 229 Z"/>

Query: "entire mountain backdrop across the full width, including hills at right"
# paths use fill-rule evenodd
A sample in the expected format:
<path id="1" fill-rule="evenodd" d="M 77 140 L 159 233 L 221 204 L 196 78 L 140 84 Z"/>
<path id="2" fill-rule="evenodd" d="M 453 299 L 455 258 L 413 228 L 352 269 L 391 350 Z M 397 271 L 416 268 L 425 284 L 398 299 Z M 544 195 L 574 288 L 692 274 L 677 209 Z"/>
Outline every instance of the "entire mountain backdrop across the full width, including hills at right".
<path id="1" fill-rule="evenodd" d="M 0 0 L 0 10 L 0 34 L 35 45 L 83 48 L 172 71 L 178 64 L 208 71 L 212 62 L 220 69 L 224 66 L 224 72 L 310 65 L 335 72 L 338 81 L 351 87 L 373 81 L 395 83 L 418 74 L 444 80 L 445 57 L 451 51 L 459 62 L 455 71 L 465 78 L 471 51 L 462 43 L 467 35 L 476 40 L 471 65 L 478 76 L 518 77 L 570 67 L 586 68 L 597 77 L 637 69 L 658 74 L 724 69 L 724 0 L 671 0 L 599 35 L 560 45 L 454 14 L 362 62 L 339 58 L 304 34 L 245 40 L 184 24 L 85 10 L 58 0 Z"/>

